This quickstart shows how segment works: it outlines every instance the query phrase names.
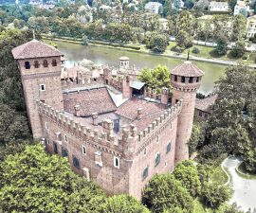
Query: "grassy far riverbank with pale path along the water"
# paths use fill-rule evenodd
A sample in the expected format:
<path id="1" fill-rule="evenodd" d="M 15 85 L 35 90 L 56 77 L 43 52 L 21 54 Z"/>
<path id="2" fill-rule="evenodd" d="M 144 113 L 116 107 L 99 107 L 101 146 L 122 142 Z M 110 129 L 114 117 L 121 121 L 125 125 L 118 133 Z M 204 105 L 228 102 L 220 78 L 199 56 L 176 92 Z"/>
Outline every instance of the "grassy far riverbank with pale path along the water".
<path id="1" fill-rule="evenodd" d="M 43 35 L 44 40 L 48 41 L 56 41 L 56 42 L 65 42 L 69 44 L 81 44 L 82 45 L 82 40 L 81 39 L 76 39 L 76 41 L 72 38 L 49 38 L 46 35 Z M 153 56 L 161 56 L 161 57 L 168 57 L 168 58 L 174 58 L 174 59 L 179 59 L 179 60 L 186 60 L 187 59 L 187 54 L 177 54 L 176 52 L 172 51 L 172 48 L 174 47 L 174 43 L 171 42 L 170 45 L 168 46 L 167 50 L 162 53 L 162 54 L 157 54 L 152 52 L 151 50 L 147 49 L 145 45 L 143 44 L 115 44 L 115 43 L 107 43 L 107 42 L 99 42 L 99 41 L 90 41 L 89 45 L 94 45 L 94 46 L 104 46 L 106 48 L 111 48 L 111 49 L 119 49 L 119 50 L 125 50 L 129 52 L 137 52 L 141 54 L 147 54 L 147 55 L 153 55 Z M 202 54 L 206 54 L 206 49 L 212 47 L 207 47 L 207 46 L 196 46 L 198 47 Z M 204 49 L 204 50 L 202 50 Z M 210 49 L 208 51 L 211 51 Z M 192 51 L 191 51 L 192 52 Z M 226 60 L 220 60 L 220 59 L 206 59 L 206 58 L 201 58 L 195 56 L 195 54 L 191 54 L 190 57 L 191 61 L 196 61 L 196 62 L 209 62 L 209 63 L 214 63 L 214 64 L 221 64 L 221 65 L 234 65 L 239 63 L 238 62 L 233 62 L 233 61 L 226 61 Z M 249 64 L 250 67 L 256 67 L 256 64 Z"/>

